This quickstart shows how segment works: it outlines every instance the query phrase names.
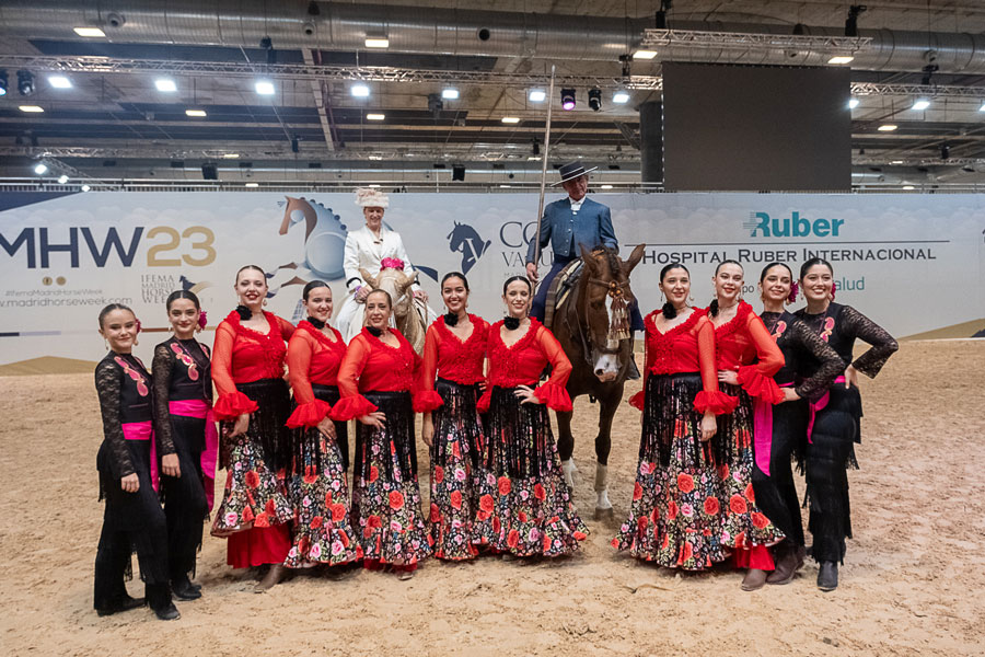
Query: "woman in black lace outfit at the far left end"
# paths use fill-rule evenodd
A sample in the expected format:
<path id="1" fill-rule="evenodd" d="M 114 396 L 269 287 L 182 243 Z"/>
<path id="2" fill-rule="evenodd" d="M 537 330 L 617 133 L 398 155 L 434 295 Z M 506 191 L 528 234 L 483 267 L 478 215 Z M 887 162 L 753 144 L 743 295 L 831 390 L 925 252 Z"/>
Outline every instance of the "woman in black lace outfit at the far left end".
<path id="1" fill-rule="evenodd" d="M 130 554 L 137 552 L 147 603 L 161 620 L 179 618 L 171 601 L 167 527 L 158 500 L 158 458 L 165 474 L 178 466 L 174 446 L 152 428 L 151 377 L 131 353 L 140 325 L 126 306 L 100 312 L 100 334 L 109 353 L 95 371 L 103 416 L 103 443 L 96 457 L 100 497 L 106 499 L 95 562 L 94 607 L 100 615 L 143 604 L 127 595 Z M 157 452 L 157 453 L 155 453 Z"/>

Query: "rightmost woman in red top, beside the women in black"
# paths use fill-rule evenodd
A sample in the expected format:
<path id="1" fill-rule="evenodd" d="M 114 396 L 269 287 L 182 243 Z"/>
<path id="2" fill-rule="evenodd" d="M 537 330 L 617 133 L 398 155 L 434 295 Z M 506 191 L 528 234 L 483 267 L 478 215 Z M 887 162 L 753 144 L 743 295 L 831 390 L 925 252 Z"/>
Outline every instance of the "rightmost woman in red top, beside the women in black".
<path id="1" fill-rule="evenodd" d="M 722 390 L 739 399 L 735 410 L 719 418 L 722 452 L 719 482 L 725 517 L 721 543 L 735 552 L 735 565 L 748 568 L 743 590 L 766 584 L 773 570 L 768 550 L 784 539 L 757 507 L 753 493 L 753 402 L 779 404 L 784 393 L 773 376 L 784 367 L 784 355 L 763 320 L 741 297 L 743 272 L 735 261 L 725 261 L 715 270 L 715 299 L 708 308 L 715 325 L 715 366 Z"/>

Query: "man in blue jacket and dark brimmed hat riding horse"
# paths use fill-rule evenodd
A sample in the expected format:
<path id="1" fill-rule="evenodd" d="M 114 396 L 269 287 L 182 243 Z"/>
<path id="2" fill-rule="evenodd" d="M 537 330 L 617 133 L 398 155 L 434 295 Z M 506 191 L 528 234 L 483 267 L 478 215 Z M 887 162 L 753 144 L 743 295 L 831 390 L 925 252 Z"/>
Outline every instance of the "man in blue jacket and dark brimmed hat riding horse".
<path id="1" fill-rule="evenodd" d="M 561 176 L 559 184 L 568 193 L 568 198 L 555 200 L 544 208 L 544 217 L 541 220 L 541 249 L 546 247 L 548 242 L 551 243 L 554 249 L 554 266 L 537 287 L 530 312 L 531 316 L 542 322 L 551 281 L 565 265 L 581 257 L 582 244 L 590 251 L 600 246 L 616 251 L 619 249 L 615 231 L 612 228 L 609 206 L 595 203 L 586 196 L 588 174 L 595 169 L 586 171 L 578 162 L 561 166 L 558 171 Z M 531 240 L 526 250 L 526 276 L 534 283 L 537 281 L 537 263 L 534 262 L 535 249 L 536 243 Z M 642 316 L 640 316 L 636 303 L 630 307 L 629 312 L 631 330 L 642 331 Z"/>

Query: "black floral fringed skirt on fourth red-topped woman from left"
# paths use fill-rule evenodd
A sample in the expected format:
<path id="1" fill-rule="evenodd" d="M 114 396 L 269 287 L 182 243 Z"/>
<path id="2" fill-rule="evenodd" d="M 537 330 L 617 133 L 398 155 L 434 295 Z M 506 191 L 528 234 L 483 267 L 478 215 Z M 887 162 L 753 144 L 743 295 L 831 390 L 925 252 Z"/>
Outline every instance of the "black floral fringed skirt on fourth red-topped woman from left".
<path id="1" fill-rule="evenodd" d="M 436 391 L 444 404 L 434 410 L 431 445 L 431 540 L 434 556 L 472 558 L 478 489 L 476 472 L 483 448 L 483 427 L 475 410 L 478 385 L 438 379 Z"/>

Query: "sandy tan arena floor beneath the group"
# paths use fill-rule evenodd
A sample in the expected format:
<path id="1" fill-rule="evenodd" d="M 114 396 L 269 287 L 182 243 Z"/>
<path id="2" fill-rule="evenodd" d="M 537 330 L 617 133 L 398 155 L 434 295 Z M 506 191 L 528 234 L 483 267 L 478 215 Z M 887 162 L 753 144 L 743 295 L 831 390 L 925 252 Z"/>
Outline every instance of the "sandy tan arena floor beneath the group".
<path id="1" fill-rule="evenodd" d="M 581 554 L 534 565 L 432 561 L 406 583 L 363 570 L 302 575 L 255 595 L 252 579 L 225 566 L 224 541 L 207 537 L 204 597 L 179 602 L 182 620 L 167 624 L 149 610 L 105 619 L 92 610 L 102 514 L 92 376 L 0 378 L 0 652 L 982 655 L 983 372 L 983 341 L 904 343 L 876 381 L 862 381 L 856 538 L 835 592 L 815 588 L 813 564 L 789 586 L 748 593 L 735 572 L 682 576 L 616 554 L 609 541 L 633 488 L 638 413 L 624 405 L 616 416 L 615 520 L 593 522 L 595 410 L 580 400 L 576 500 L 592 531 Z M 139 580 L 130 591 L 142 595 Z"/>

